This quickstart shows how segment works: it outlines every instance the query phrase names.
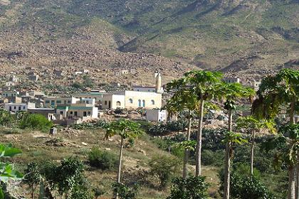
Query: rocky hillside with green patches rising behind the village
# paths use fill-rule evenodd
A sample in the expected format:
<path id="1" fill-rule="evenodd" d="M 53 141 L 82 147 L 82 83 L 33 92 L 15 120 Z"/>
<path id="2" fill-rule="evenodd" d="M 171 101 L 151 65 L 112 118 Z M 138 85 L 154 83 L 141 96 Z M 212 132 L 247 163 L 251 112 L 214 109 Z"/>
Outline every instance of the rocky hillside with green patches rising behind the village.
<path id="1" fill-rule="evenodd" d="M 0 0 L 0 64 L 271 72 L 299 57 L 298 10 L 298 0 Z"/>

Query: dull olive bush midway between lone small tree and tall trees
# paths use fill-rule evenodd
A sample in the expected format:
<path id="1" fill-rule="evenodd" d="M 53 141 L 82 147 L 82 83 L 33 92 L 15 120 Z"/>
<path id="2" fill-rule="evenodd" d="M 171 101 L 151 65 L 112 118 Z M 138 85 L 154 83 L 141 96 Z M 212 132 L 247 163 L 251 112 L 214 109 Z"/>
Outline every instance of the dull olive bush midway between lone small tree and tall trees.
<path id="1" fill-rule="evenodd" d="M 154 156 L 149 165 L 152 175 L 159 178 L 159 188 L 164 189 L 179 171 L 181 161 L 172 156 Z"/>

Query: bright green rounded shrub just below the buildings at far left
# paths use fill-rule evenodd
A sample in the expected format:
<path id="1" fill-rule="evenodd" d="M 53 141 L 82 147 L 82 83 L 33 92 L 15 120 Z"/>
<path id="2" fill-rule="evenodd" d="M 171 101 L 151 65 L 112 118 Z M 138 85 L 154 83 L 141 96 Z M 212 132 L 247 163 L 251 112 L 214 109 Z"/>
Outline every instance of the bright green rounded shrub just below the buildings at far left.
<path id="1" fill-rule="evenodd" d="M 28 114 L 19 122 L 19 127 L 21 129 L 49 131 L 53 127 L 53 122 L 48 121 L 42 114 Z"/>

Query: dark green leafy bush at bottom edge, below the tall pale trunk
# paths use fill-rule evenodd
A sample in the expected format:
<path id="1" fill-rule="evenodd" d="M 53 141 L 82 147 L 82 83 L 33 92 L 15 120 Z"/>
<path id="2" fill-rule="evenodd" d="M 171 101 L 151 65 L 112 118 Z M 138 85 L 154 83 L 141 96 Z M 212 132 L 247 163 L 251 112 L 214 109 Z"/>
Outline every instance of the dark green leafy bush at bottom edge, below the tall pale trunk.
<path id="1" fill-rule="evenodd" d="M 175 178 L 172 185 L 171 195 L 167 199 L 207 199 L 209 183 L 205 182 L 206 177 L 189 176 Z"/>

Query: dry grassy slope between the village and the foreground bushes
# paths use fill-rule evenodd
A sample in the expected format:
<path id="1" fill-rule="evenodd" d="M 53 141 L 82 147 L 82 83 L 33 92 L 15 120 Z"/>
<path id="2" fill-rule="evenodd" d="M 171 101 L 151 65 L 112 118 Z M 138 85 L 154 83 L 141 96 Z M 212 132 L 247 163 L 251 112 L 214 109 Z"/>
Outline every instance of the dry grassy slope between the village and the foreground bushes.
<path id="1" fill-rule="evenodd" d="M 8 131 L 10 134 L 7 134 Z M 13 133 L 11 134 L 11 132 Z M 45 142 L 49 141 L 50 138 L 48 138 L 47 134 L 39 131 L 18 132 L 19 134 L 15 134 L 14 131 L 1 128 L 0 136 L 3 143 L 12 143 L 14 146 L 22 149 L 23 154 L 13 158 L 13 161 L 17 163 L 21 169 L 24 168 L 26 163 L 31 161 L 59 161 L 66 156 L 79 156 L 83 161 L 86 161 L 86 153 L 93 146 L 98 146 L 103 150 L 109 148 L 110 151 L 118 154 L 118 138 L 115 137 L 112 141 L 103 141 L 104 132 L 100 130 L 80 131 L 78 135 L 61 132 L 58 134 L 61 143 L 58 144 L 65 144 L 65 146 L 47 146 Z M 83 145 L 83 142 L 88 144 L 88 146 Z M 146 152 L 146 156 L 139 152 L 140 149 Z M 140 137 L 140 139 L 135 142 L 135 146 L 133 148 L 125 149 L 122 181 L 125 181 L 126 183 L 133 183 L 137 181 L 142 183 L 138 198 L 166 198 L 169 194 L 169 189 L 160 191 L 155 188 L 155 186 L 157 186 L 157 184 L 154 183 L 157 182 L 156 178 L 144 174 L 144 172 L 147 173 L 149 170 L 147 163 L 150 161 L 150 158 L 161 154 L 168 153 L 158 149 L 157 146 L 150 141 L 150 137 L 147 135 Z M 203 168 L 204 175 L 206 175 L 207 180 L 212 183 L 212 187 L 210 189 L 211 193 L 215 193 L 215 191 L 218 190 L 219 181 L 217 171 L 218 168 L 214 167 L 204 166 Z M 112 195 L 110 185 L 113 181 L 115 181 L 116 172 L 87 168 L 86 176 L 88 176 L 94 186 L 99 186 L 107 191 L 107 196 Z"/>

